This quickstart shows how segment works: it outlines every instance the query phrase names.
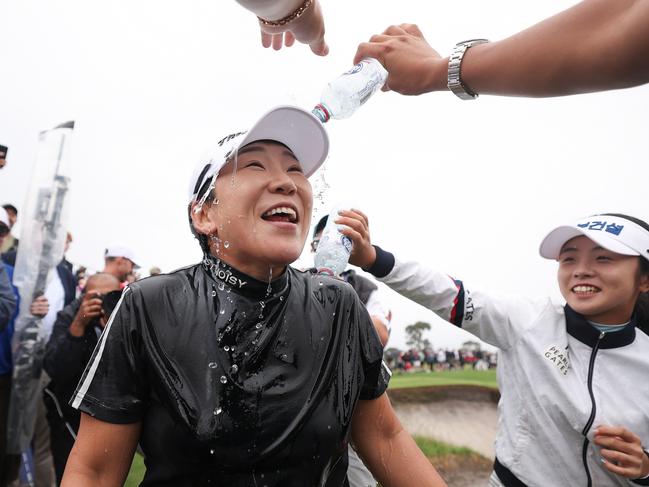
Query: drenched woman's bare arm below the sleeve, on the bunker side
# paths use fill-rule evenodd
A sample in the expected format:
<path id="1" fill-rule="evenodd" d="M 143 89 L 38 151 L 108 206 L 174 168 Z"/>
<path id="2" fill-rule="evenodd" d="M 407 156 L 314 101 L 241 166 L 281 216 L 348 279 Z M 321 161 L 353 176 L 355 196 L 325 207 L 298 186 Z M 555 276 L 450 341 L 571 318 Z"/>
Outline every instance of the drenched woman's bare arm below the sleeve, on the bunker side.
<path id="1" fill-rule="evenodd" d="M 388 396 L 358 401 L 352 438 L 363 462 L 385 487 L 444 487 L 446 483 L 403 429 Z"/>

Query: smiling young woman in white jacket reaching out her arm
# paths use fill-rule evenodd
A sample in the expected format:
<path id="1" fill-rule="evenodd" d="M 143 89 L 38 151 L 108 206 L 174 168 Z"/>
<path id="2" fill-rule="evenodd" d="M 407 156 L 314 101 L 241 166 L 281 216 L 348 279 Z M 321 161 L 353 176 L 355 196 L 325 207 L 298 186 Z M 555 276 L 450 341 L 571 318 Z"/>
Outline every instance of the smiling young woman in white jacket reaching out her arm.
<path id="1" fill-rule="evenodd" d="M 352 264 L 500 349 L 490 486 L 649 485 L 647 223 L 607 213 L 551 231 L 540 253 L 559 263 L 564 304 L 494 297 L 395 259 L 358 210 L 336 222 Z"/>

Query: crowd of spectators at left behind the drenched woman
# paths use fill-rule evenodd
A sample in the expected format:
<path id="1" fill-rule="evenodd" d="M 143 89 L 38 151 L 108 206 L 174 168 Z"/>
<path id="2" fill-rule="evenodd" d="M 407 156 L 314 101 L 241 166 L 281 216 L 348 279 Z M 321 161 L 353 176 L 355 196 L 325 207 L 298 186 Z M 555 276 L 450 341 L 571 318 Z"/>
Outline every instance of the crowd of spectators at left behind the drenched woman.
<path id="1" fill-rule="evenodd" d="M 0 151 L 5 163 L 6 148 Z M 108 244 L 104 266 L 91 272 L 82 264 L 73 264 L 67 251 L 73 236 L 67 232 L 61 260 L 50 272 L 43 293 L 30 303 L 20 302 L 13 285 L 14 268 L 20 252 L 20 239 L 14 232 L 19 219 L 16 205 L 5 203 L 0 208 L 0 486 L 17 487 L 58 485 L 69 452 L 79 428 L 79 412 L 68 405 L 74 388 L 90 359 L 97 339 L 106 325 L 121 290 L 140 279 L 141 269 L 133 250 L 123 244 Z M 152 267 L 149 275 L 160 274 Z M 41 320 L 45 353 L 40 372 L 42 400 L 33 421 L 31 449 L 25 454 L 8 450 L 10 398 L 15 357 L 12 339 L 21 308 Z M 25 310 L 23 310 L 25 311 Z"/>

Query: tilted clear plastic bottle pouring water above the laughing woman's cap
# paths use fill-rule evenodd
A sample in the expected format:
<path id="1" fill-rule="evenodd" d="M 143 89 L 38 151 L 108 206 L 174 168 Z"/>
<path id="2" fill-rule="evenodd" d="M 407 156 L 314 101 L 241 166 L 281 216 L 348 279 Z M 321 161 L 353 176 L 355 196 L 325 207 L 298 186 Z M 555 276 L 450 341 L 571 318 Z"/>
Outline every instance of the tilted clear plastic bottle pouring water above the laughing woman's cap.
<path id="1" fill-rule="evenodd" d="M 379 61 L 374 58 L 363 59 L 326 86 L 313 114 L 322 123 L 330 118 L 351 117 L 358 107 L 385 84 L 387 78 L 388 72 Z"/>

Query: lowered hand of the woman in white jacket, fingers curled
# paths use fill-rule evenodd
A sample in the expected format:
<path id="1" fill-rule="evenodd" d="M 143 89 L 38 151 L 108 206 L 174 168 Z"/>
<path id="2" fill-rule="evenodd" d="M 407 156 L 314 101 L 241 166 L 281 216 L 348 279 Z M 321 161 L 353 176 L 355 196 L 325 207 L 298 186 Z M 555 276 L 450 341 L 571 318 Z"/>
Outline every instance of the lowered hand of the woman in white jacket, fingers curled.
<path id="1" fill-rule="evenodd" d="M 640 438 L 621 426 L 599 426 L 595 444 L 602 447 L 604 467 L 628 479 L 649 475 L 649 457 L 642 449 Z"/>

